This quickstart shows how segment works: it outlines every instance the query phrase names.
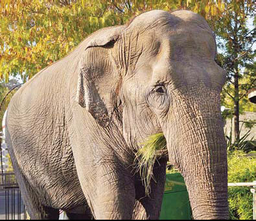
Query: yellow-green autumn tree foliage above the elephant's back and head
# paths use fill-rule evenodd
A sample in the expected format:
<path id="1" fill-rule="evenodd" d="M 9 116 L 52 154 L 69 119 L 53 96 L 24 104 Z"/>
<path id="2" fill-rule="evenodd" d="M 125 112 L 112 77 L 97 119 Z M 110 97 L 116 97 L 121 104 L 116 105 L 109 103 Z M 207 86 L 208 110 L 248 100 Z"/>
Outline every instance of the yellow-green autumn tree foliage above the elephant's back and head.
<path id="1" fill-rule="evenodd" d="M 32 78 L 63 58 L 96 30 L 124 25 L 148 10 L 190 9 L 204 17 L 221 16 L 224 3 L 194 0 L 1 0 L 0 78 Z"/>

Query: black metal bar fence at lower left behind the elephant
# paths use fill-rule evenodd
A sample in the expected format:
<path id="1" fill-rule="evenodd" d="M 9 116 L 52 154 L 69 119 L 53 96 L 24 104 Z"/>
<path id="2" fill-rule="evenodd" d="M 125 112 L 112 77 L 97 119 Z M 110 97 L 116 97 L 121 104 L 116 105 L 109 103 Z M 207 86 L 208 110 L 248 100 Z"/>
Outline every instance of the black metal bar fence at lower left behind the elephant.
<path id="1" fill-rule="evenodd" d="M 0 173 L 0 220 L 26 219 L 25 205 L 13 171 Z"/>

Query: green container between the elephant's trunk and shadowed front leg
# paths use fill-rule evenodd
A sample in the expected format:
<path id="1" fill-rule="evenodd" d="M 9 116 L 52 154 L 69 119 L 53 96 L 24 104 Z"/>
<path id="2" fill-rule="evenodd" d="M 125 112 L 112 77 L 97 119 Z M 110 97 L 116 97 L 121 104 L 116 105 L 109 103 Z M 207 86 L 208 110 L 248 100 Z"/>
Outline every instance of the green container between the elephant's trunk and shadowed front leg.
<path id="1" fill-rule="evenodd" d="M 167 174 L 160 220 L 191 220 L 189 194 L 180 173 Z"/>

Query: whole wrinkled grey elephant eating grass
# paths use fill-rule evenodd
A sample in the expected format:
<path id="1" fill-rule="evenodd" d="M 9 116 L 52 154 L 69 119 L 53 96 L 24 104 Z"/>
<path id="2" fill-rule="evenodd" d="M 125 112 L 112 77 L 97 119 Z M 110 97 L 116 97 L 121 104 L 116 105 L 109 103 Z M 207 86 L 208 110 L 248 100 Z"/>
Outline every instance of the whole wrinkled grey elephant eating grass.
<path id="1" fill-rule="evenodd" d="M 95 32 L 21 87 L 6 132 L 31 218 L 63 209 L 69 218 L 130 219 L 135 199 L 159 218 L 166 161 L 155 165 L 150 197 L 132 164 L 139 143 L 162 131 L 194 218 L 227 218 L 215 47 L 202 17 L 154 10 Z"/>

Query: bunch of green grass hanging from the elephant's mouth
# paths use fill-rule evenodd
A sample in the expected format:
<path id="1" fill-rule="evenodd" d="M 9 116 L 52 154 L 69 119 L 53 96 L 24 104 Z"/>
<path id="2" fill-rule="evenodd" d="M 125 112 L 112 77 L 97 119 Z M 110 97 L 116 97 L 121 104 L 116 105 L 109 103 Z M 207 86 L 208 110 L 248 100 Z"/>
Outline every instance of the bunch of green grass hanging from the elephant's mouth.
<path id="1" fill-rule="evenodd" d="M 150 195 L 150 182 L 154 180 L 153 167 L 158 153 L 167 149 L 166 144 L 163 133 L 153 134 L 141 143 L 141 149 L 135 154 L 135 169 L 141 175 L 146 195 Z"/>

